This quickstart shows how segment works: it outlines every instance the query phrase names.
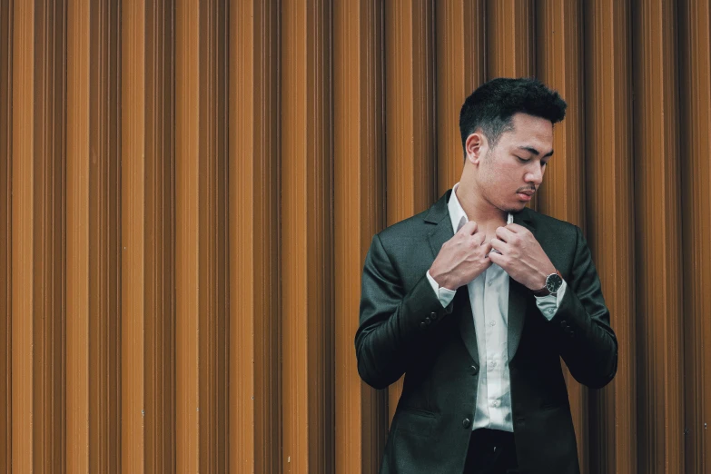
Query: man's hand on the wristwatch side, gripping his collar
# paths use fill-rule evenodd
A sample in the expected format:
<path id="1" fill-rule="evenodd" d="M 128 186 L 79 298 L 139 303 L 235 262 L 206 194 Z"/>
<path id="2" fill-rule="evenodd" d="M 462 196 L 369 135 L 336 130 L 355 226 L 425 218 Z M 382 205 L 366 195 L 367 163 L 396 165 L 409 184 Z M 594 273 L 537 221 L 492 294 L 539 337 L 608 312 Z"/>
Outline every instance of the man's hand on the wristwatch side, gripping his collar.
<path id="1" fill-rule="evenodd" d="M 499 227 L 496 239 L 491 239 L 491 247 L 499 252 L 491 252 L 491 262 L 529 290 L 540 290 L 546 286 L 546 277 L 556 272 L 533 234 L 518 224 Z"/>

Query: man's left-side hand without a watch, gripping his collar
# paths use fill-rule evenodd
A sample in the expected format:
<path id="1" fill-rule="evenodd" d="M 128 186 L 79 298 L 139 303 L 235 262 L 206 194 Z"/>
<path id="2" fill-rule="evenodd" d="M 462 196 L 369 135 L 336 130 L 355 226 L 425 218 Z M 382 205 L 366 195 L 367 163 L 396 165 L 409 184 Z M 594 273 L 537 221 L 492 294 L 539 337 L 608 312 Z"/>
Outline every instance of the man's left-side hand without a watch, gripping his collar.
<path id="1" fill-rule="evenodd" d="M 440 287 L 457 290 L 477 278 L 491 265 L 491 244 L 477 232 L 477 222 L 469 221 L 449 241 L 444 242 L 430 267 L 430 275 Z"/>

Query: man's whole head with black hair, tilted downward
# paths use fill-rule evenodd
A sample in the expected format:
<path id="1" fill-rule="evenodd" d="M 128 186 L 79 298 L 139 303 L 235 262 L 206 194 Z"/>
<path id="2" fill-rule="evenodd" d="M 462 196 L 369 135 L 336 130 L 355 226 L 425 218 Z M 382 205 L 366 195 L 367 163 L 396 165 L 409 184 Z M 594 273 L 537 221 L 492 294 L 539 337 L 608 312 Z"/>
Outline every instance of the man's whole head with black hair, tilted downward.
<path id="1" fill-rule="evenodd" d="M 469 95 L 459 114 L 462 183 L 482 204 L 518 212 L 543 181 L 553 124 L 566 103 L 536 79 L 494 79 Z"/>

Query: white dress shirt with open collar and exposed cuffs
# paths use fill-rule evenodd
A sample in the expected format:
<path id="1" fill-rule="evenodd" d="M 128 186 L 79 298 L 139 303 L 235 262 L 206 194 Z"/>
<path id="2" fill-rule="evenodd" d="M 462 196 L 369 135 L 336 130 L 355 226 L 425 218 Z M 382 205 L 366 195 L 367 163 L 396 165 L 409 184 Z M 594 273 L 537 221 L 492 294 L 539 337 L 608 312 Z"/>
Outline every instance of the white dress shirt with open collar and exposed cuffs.
<path id="1" fill-rule="evenodd" d="M 454 186 L 448 203 L 449 218 L 455 233 L 469 222 L 457 198 L 458 187 L 459 183 Z M 513 222 L 511 214 L 509 214 L 510 222 Z M 427 278 L 439 302 L 442 306 L 448 306 L 454 299 L 456 291 L 440 287 L 430 272 L 427 272 Z M 489 428 L 513 432 L 509 373 L 509 274 L 496 263 L 492 263 L 486 271 L 473 281 L 469 281 L 467 288 L 481 365 L 477 386 L 477 408 L 471 429 Z M 538 309 L 548 321 L 556 315 L 565 291 L 566 282 L 563 281 L 558 296 L 536 297 Z"/>

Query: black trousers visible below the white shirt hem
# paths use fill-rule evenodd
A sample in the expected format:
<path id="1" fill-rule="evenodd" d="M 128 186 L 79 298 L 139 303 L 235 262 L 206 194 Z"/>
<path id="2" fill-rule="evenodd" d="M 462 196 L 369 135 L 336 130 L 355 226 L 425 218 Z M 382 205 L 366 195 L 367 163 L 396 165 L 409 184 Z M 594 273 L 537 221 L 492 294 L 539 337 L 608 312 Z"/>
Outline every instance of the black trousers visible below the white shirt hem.
<path id="1" fill-rule="evenodd" d="M 513 433 L 499 430 L 472 431 L 463 474 L 518 474 Z"/>

